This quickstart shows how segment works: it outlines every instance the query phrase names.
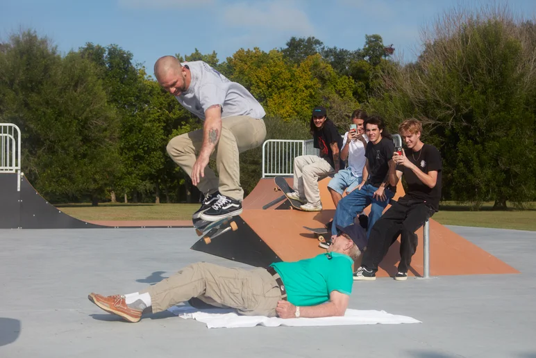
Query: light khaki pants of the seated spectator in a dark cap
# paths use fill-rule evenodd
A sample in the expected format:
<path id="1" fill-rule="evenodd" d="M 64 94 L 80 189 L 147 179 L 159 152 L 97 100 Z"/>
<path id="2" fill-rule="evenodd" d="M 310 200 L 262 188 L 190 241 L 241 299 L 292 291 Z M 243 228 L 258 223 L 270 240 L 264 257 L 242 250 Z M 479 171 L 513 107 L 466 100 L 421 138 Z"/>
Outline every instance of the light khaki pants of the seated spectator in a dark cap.
<path id="1" fill-rule="evenodd" d="M 296 156 L 294 158 L 294 190 L 299 193 L 300 197 L 305 197 L 308 203 L 319 205 L 321 202 L 318 179 L 334 170 L 326 159 L 319 156 Z"/>

